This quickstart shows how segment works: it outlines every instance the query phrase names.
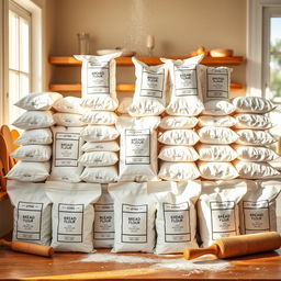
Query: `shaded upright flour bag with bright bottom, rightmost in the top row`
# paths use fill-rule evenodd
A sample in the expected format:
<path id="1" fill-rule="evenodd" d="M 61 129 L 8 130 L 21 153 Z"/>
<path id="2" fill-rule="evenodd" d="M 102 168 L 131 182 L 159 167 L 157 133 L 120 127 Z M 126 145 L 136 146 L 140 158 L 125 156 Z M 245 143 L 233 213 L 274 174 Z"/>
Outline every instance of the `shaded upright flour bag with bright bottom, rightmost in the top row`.
<path id="1" fill-rule="evenodd" d="M 203 101 L 205 115 L 227 115 L 235 111 L 228 100 L 232 69 L 228 67 L 199 66 L 204 75 Z"/>

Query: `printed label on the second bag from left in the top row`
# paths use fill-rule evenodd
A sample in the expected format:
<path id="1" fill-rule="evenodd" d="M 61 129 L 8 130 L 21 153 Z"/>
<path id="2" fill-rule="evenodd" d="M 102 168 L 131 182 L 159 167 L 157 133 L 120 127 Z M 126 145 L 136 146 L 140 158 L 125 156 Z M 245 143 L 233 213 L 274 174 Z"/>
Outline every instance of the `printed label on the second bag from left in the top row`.
<path id="1" fill-rule="evenodd" d="M 165 87 L 165 70 L 149 72 L 143 68 L 140 97 L 162 98 Z"/>

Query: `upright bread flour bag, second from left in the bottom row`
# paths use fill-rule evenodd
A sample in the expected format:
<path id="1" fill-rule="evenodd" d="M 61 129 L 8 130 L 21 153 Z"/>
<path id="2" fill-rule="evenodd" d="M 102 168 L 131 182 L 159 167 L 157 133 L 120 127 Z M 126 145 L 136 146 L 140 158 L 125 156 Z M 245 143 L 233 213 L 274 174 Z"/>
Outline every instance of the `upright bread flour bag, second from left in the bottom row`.
<path id="1" fill-rule="evenodd" d="M 56 251 L 93 250 L 95 203 L 101 195 L 98 183 L 46 181 L 45 191 L 53 202 L 50 246 Z"/>

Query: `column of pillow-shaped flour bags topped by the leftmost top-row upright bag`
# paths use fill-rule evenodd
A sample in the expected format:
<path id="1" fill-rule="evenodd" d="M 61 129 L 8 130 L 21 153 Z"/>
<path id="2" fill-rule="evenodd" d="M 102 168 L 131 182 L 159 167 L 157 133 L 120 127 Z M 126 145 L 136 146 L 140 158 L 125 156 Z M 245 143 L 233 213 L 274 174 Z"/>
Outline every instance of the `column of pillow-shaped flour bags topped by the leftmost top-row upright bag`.
<path id="1" fill-rule="evenodd" d="M 81 121 L 83 155 L 79 164 L 85 168 L 80 179 L 86 182 L 109 183 L 117 181 L 119 132 L 115 128 L 116 99 L 114 58 L 121 53 L 105 56 L 75 56 L 82 61 L 82 101 L 86 112 Z"/>

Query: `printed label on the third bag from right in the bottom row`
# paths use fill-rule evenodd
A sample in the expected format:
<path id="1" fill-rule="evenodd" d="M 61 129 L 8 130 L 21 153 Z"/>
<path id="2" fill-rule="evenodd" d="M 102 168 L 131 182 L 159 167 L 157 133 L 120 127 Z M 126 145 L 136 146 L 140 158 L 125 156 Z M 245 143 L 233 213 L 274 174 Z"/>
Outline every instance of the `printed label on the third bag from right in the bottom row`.
<path id="1" fill-rule="evenodd" d="M 165 241 L 183 243 L 191 240 L 189 203 L 162 203 Z"/>

